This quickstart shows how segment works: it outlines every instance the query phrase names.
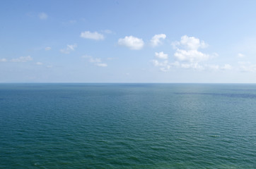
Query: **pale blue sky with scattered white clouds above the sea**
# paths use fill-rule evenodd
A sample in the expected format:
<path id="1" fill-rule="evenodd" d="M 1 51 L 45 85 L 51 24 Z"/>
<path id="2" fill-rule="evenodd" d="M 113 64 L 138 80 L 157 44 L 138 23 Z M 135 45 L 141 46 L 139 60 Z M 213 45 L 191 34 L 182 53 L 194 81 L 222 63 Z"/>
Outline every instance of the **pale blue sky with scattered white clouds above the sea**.
<path id="1" fill-rule="evenodd" d="M 255 83 L 256 1 L 13 1 L 0 82 Z"/>

